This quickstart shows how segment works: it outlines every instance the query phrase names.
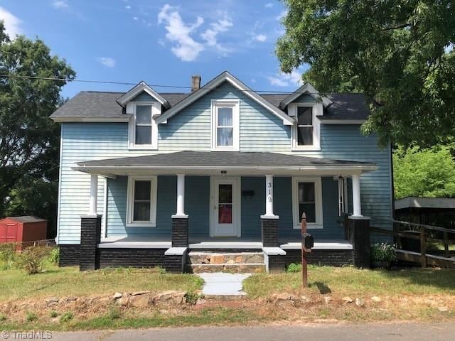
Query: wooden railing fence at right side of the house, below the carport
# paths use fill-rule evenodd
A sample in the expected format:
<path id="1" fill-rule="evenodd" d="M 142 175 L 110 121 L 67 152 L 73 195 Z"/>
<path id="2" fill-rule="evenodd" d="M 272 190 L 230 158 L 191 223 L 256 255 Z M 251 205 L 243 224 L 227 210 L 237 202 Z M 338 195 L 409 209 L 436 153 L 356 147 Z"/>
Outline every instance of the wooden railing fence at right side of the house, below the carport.
<path id="1" fill-rule="evenodd" d="M 427 266 L 455 267 L 455 252 L 451 251 L 449 247 L 455 245 L 454 229 L 400 220 L 375 220 L 375 222 L 393 224 L 393 229 L 370 226 L 370 232 L 392 235 L 397 247 L 397 259 L 420 263 L 422 268 Z M 428 246 L 431 244 L 442 244 L 444 250 L 441 252 L 434 249 L 429 250 Z"/>

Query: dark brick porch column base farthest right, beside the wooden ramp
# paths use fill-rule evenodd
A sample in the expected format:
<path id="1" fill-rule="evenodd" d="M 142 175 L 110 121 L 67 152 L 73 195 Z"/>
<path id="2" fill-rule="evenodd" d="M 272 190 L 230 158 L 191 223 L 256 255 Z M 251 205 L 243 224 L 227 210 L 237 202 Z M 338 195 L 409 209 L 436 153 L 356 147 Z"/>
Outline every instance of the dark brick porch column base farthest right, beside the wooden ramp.
<path id="1" fill-rule="evenodd" d="M 353 265 L 370 267 L 370 217 L 348 217 L 349 241 L 353 244 Z"/>

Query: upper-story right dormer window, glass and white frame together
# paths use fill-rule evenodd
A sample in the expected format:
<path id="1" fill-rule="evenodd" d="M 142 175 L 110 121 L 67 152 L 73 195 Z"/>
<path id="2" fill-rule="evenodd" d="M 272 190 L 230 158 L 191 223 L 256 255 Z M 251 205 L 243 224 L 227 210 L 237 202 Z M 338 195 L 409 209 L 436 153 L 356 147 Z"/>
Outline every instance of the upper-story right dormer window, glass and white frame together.
<path id="1" fill-rule="evenodd" d="M 322 110 L 322 105 L 319 103 L 289 104 L 288 112 L 296 120 L 291 134 L 293 151 L 320 150 L 320 122 L 316 115 Z"/>

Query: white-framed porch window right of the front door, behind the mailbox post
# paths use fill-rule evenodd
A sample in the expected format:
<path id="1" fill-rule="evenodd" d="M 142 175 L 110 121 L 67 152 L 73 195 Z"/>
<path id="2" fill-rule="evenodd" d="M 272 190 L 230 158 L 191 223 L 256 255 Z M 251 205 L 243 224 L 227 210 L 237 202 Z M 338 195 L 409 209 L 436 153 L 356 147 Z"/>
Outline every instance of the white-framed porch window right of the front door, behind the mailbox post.
<path id="1" fill-rule="evenodd" d="M 293 178 L 294 228 L 300 229 L 301 215 L 305 212 L 308 228 L 322 228 L 321 178 Z"/>

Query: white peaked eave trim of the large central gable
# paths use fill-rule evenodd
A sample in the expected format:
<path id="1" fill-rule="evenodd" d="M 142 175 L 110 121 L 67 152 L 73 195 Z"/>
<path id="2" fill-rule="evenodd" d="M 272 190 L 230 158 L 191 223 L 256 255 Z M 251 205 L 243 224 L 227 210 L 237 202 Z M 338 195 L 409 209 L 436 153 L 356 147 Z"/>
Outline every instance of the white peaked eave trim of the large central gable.
<path id="1" fill-rule="evenodd" d="M 199 90 L 193 92 L 188 97 L 183 99 L 181 102 L 178 102 L 174 107 L 168 109 L 167 112 L 161 114 L 160 117 L 156 118 L 157 123 L 164 124 L 167 122 L 167 119 L 173 117 L 175 114 L 180 112 L 182 109 L 185 109 L 191 103 L 195 102 L 197 99 L 205 96 L 208 92 L 212 91 L 215 87 L 218 87 L 223 82 L 228 82 L 233 87 L 237 88 L 240 91 L 245 92 L 245 94 L 250 97 L 251 99 L 255 100 L 255 102 L 259 103 L 265 109 L 275 114 L 277 117 L 283 120 L 283 124 L 285 125 L 292 125 L 294 124 L 294 119 L 289 117 L 286 113 L 284 113 L 281 109 L 275 107 L 272 103 L 268 102 L 267 99 L 261 97 L 259 94 L 251 90 L 247 87 L 244 83 L 240 82 L 236 77 L 232 76 L 229 72 L 225 71 L 222 74 L 218 75 L 217 77 L 210 80 L 206 85 L 201 87 Z"/>

